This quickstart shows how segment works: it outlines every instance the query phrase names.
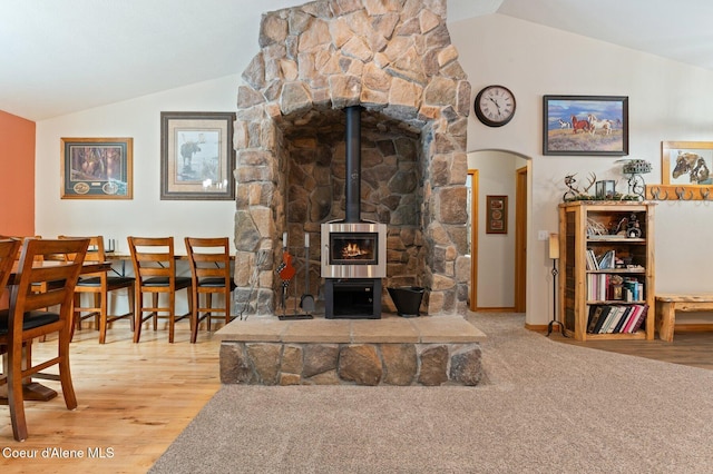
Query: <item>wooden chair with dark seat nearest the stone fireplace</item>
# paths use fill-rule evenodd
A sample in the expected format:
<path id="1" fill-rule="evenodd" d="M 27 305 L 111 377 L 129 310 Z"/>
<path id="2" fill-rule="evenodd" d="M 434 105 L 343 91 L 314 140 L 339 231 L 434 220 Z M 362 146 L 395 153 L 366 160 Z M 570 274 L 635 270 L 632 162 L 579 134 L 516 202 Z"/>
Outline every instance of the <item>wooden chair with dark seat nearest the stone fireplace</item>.
<path id="1" fill-rule="evenodd" d="M 191 342 L 195 344 L 202 320 L 206 320 L 208 332 L 214 317 L 221 317 L 225 324 L 231 322 L 231 293 L 236 285 L 231 271 L 227 237 L 186 237 L 185 241 L 193 279 Z M 214 294 L 223 295 L 223 307 L 213 306 Z M 205 306 L 201 305 L 201 295 L 205 295 Z"/>

